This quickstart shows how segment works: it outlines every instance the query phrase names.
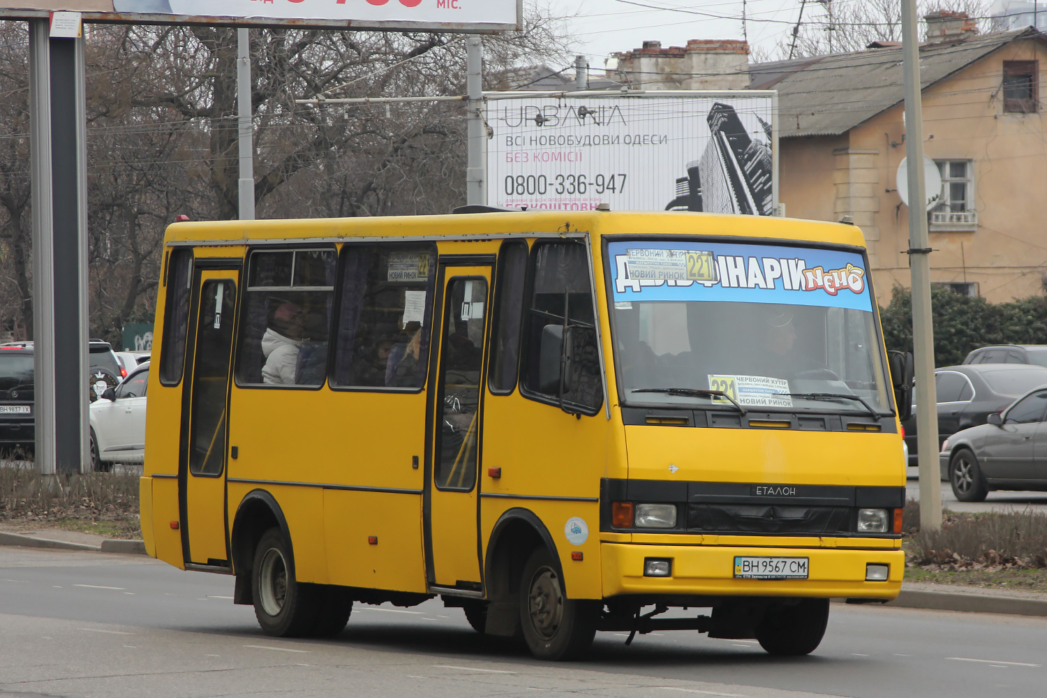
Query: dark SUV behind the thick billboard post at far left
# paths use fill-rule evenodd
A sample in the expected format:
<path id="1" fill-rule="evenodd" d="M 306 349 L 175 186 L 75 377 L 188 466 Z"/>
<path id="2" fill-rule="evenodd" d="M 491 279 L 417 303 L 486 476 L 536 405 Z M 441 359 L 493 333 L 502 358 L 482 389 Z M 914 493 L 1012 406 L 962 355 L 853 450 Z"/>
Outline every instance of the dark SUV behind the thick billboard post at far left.
<path id="1" fill-rule="evenodd" d="M 36 440 L 34 414 L 32 342 L 0 344 L 0 449 L 31 449 Z M 98 381 L 119 383 L 120 365 L 109 342 L 92 339 L 88 344 L 91 400 Z"/>

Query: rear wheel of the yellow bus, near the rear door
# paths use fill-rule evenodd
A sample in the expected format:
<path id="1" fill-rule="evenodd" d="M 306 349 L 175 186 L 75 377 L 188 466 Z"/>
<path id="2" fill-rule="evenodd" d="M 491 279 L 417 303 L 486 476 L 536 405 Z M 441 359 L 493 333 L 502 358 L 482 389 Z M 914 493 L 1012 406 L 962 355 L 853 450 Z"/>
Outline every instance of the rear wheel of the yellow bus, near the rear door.
<path id="1" fill-rule="evenodd" d="M 310 585 L 294 579 L 291 546 L 280 528 L 270 528 L 262 535 L 254 551 L 252 578 L 254 616 L 266 634 L 276 637 L 311 634 L 317 618 L 317 594 Z"/>

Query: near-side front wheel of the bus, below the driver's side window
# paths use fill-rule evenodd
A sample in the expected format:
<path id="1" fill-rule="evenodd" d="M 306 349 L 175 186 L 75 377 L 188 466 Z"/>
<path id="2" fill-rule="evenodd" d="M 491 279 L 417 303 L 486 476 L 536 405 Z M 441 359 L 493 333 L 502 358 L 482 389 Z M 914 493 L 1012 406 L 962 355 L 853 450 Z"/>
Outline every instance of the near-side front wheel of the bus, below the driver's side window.
<path id="1" fill-rule="evenodd" d="M 524 565 L 520 625 L 528 649 L 537 659 L 573 659 L 588 649 L 600 606 L 567 599 L 552 554 L 537 548 Z"/>

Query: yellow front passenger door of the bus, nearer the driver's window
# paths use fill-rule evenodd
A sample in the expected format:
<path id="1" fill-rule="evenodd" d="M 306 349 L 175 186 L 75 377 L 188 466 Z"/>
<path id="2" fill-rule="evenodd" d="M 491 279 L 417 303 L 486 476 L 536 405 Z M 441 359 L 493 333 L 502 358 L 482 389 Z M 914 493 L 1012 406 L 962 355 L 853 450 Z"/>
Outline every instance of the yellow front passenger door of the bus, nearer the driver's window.
<path id="1" fill-rule="evenodd" d="M 437 370 L 430 370 L 425 548 L 430 587 L 480 592 L 480 434 L 491 267 L 442 267 Z"/>

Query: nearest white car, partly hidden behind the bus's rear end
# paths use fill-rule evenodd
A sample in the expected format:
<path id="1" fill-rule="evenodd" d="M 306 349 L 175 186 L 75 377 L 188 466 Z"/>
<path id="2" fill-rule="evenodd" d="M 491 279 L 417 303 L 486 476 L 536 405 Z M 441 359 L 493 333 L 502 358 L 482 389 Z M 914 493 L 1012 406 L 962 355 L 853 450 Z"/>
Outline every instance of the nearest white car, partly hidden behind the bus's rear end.
<path id="1" fill-rule="evenodd" d="M 114 463 L 144 463 L 148 385 L 149 362 L 146 362 L 91 403 L 93 470 L 112 470 Z"/>

